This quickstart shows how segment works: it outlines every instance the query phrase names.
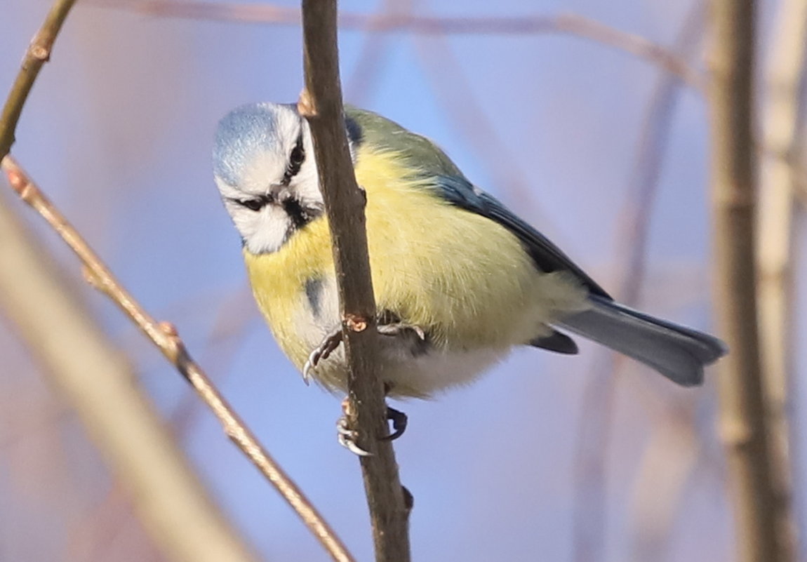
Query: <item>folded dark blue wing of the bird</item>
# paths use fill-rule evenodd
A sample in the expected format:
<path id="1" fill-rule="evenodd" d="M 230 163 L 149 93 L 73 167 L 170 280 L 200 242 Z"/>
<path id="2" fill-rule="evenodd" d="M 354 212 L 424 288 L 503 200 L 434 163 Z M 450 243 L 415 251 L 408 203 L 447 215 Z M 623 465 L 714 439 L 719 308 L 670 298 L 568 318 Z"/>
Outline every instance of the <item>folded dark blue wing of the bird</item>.
<path id="1" fill-rule="evenodd" d="M 569 256 L 552 244 L 550 239 L 519 219 L 500 201 L 472 185 L 464 177 L 440 176 L 437 179 L 437 193 L 446 201 L 480 214 L 499 223 L 511 231 L 521 244 L 524 244 L 538 269 L 550 273 L 567 271 L 572 273 L 591 293 L 613 300 L 587 273 L 580 269 Z"/>

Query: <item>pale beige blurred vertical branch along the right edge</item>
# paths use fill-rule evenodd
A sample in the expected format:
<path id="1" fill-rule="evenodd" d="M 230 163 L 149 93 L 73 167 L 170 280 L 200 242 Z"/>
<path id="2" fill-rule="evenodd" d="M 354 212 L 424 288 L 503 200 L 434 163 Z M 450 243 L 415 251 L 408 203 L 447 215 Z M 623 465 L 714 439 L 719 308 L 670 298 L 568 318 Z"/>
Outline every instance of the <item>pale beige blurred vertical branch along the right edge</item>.
<path id="1" fill-rule="evenodd" d="M 771 415 L 771 448 L 777 519 L 783 560 L 796 560 L 797 526 L 793 519 L 792 467 L 788 393 L 792 325 L 792 229 L 801 123 L 800 92 L 807 52 L 807 1 L 786 0 L 779 6 L 766 80 L 764 154 L 759 190 L 759 343 L 764 390 Z"/>

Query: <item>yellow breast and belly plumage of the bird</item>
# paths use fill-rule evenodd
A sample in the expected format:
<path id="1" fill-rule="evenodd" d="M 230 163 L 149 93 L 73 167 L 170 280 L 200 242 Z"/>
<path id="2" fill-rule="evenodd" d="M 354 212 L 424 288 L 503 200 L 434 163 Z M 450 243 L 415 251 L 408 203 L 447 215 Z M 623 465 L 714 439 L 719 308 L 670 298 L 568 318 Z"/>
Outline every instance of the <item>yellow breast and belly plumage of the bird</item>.
<path id="1" fill-rule="evenodd" d="M 403 322 L 423 328 L 437 350 L 484 348 L 500 356 L 512 345 L 546 335 L 546 323 L 558 318 L 558 312 L 585 308 L 586 293 L 571 276 L 538 273 L 508 230 L 416 185 L 416 175 L 400 161 L 393 152 L 364 147 L 357 155 L 356 177 L 367 194 L 367 241 L 378 310 L 391 310 Z M 306 284 L 334 275 L 327 219 L 323 216 L 291 235 L 277 252 L 245 251 L 245 261 L 261 312 L 283 351 L 301 368 L 320 343 L 312 342 L 301 324 L 310 315 Z M 410 388 L 406 379 L 417 373 L 399 369 L 416 367 L 387 368 L 387 378 L 395 381 L 393 393 L 422 396 L 430 391 L 422 383 L 417 390 Z M 342 386 L 344 373 L 333 365 L 318 375 L 326 386 Z M 421 375 L 436 379 L 433 389 L 465 382 L 440 381 L 440 373 Z"/>

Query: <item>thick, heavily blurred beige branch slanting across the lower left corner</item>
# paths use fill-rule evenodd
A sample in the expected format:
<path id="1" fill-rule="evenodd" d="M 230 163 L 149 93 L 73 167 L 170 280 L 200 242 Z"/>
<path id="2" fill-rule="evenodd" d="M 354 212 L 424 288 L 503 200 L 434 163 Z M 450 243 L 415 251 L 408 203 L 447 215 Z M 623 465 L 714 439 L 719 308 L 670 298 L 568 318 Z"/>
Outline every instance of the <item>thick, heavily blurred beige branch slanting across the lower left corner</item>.
<path id="1" fill-rule="evenodd" d="M 0 239 L 2 313 L 82 419 L 165 560 L 255 562 L 134 383 L 132 366 L 6 197 L 0 198 Z"/>

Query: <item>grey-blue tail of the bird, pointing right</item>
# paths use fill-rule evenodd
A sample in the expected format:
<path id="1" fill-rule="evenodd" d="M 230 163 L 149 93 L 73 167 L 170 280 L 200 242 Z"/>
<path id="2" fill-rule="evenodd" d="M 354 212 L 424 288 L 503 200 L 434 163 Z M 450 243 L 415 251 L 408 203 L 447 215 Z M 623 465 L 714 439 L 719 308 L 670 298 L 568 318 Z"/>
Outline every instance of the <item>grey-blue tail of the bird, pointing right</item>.
<path id="1" fill-rule="evenodd" d="M 679 385 L 700 385 L 704 366 L 728 351 L 712 335 L 596 295 L 590 300 L 592 308 L 564 318 L 558 326 L 633 357 Z"/>

